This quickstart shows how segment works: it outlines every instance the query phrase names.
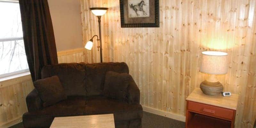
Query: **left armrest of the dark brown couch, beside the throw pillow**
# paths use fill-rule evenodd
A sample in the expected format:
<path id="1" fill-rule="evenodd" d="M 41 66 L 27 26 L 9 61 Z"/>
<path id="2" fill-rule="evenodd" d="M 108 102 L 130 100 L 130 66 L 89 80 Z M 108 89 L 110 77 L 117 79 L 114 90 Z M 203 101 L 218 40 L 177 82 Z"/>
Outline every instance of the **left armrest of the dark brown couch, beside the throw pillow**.
<path id="1" fill-rule="evenodd" d="M 28 112 L 40 110 L 42 108 L 42 103 L 40 96 L 36 89 L 32 90 L 26 97 Z"/>

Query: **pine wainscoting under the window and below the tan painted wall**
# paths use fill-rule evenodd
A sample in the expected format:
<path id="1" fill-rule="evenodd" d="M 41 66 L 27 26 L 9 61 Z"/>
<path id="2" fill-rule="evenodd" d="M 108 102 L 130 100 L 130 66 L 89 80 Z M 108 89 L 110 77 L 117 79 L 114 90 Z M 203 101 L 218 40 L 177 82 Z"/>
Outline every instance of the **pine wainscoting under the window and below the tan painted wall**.
<path id="1" fill-rule="evenodd" d="M 83 50 L 58 52 L 59 63 L 84 62 Z M 33 89 L 29 73 L 9 80 L 0 79 L 0 128 L 8 128 L 22 121 L 23 113 L 28 111 L 26 96 Z"/>

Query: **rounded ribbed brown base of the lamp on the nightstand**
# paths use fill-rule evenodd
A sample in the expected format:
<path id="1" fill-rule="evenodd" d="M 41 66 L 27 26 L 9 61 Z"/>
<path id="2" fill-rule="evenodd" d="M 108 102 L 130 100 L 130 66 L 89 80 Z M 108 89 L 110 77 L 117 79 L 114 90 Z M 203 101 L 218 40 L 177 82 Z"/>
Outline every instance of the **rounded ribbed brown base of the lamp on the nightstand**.
<path id="1" fill-rule="evenodd" d="M 220 82 L 203 81 L 200 84 L 200 89 L 207 95 L 218 95 L 223 91 L 223 85 Z"/>

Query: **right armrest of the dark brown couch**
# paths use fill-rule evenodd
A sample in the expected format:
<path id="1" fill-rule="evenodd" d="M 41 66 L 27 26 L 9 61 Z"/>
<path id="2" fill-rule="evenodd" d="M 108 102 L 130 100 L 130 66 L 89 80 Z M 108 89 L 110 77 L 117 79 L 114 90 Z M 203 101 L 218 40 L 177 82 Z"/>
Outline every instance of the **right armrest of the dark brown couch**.
<path id="1" fill-rule="evenodd" d="M 140 104 L 140 89 L 138 88 L 132 77 L 129 80 L 128 103 Z"/>

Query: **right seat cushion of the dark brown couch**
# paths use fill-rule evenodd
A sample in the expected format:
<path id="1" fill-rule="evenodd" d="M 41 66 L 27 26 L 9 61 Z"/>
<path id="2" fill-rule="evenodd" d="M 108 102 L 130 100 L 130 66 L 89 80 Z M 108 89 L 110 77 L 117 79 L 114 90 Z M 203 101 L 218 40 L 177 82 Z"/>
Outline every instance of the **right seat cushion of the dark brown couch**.
<path id="1" fill-rule="evenodd" d="M 103 96 L 87 97 L 85 115 L 114 113 L 115 121 L 142 118 L 142 107 L 139 104 L 130 105 Z"/>

